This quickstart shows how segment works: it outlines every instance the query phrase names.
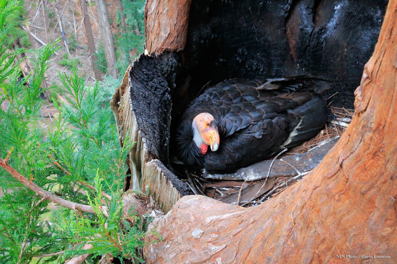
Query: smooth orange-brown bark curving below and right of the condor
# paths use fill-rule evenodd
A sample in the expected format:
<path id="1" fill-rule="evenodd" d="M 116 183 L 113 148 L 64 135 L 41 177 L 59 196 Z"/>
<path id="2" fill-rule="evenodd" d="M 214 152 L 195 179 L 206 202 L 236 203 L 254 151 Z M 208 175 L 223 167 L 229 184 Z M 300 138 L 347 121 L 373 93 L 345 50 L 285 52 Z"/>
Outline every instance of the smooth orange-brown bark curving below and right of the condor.
<path id="1" fill-rule="evenodd" d="M 355 91 L 355 116 L 303 180 L 242 208 L 185 196 L 153 221 L 164 241 L 148 263 L 345 263 L 337 255 L 397 259 L 397 0 Z M 151 237 L 156 239 L 156 237 Z M 350 260 L 350 259 L 349 259 Z M 357 262 L 357 260 L 353 260 Z M 383 262 L 383 261 L 382 261 Z"/>

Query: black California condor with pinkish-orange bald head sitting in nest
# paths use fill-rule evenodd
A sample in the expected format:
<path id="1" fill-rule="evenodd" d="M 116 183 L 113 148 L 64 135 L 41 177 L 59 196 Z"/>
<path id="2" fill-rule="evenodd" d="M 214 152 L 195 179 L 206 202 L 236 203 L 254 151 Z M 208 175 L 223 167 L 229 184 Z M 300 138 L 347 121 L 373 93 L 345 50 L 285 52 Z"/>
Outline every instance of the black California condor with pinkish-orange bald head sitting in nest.
<path id="1" fill-rule="evenodd" d="M 183 114 L 177 141 L 182 160 L 209 173 L 240 167 L 297 146 L 333 119 L 309 76 L 231 79 L 209 87 Z"/>

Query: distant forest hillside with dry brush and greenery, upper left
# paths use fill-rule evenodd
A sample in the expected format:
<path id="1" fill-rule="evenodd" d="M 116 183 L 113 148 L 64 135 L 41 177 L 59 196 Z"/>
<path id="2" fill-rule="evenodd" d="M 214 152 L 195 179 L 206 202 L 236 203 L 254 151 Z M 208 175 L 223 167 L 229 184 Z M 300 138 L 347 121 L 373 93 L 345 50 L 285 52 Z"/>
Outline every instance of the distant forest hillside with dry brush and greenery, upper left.
<path id="1" fill-rule="evenodd" d="M 108 16 L 101 18 L 110 23 L 117 76 L 110 74 L 106 64 L 103 39 L 109 36 L 105 36 L 106 32 L 101 30 L 97 4 L 94 0 L 86 1 L 85 5 L 94 40 L 95 65 L 89 49 L 81 0 L 20 1 L 18 5 L 21 8 L 9 17 L 9 21 L 13 21 L 14 25 L 8 37 L 19 40 L 19 44 L 27 49 L 39 48 L 43 46 L 43 42 L 46 44 L 61 38 L 59 44 L 62 47 L 50 58 L 50 68 L 46 71 L 48 87 L 60 84 L 58 71 L 71 73 L 75 63 L 79 74 L 84 76 L 87 84 L 93 84 L 96 79 L 100 81 L 102 87 L 100 100 L 101 103 L 108 105 L 114 87 L 120 84 L 128 65 L 144 51 L 145 3 L 145 0 L 106 0 Z M 7 39 L 5 41 L 7 42 Z M 32 56 L 27 54 L 27 59 Z M 99 71 L 100 78 L 96 78 L 94 70 Z M 62 85 L 53 87 L 47 93 L 49 101 L 51 98 L 62 101 Z M 56 108 L 52 107 L 50 102 L 49 104 L 44 102 L 44 107 L 49 108 L 49 111 L 43 111 L 43 117 L 49 118 L 49 114 L 56 114 Z"/>

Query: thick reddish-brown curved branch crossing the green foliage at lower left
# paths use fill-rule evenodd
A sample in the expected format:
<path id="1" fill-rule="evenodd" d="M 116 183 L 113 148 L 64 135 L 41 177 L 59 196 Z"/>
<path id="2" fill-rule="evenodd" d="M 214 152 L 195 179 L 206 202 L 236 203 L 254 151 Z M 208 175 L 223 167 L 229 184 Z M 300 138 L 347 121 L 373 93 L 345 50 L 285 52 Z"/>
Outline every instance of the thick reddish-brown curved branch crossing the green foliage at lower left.
<path id="1" fill-rule="evenodd" d="M 28 178 L 25 176 L 21 175 L 21 173 L 17 172 L 13 167 L 11 167 L 6 160 L 3 160 L 0 158 L 0 166 L 3 167 L 8 173 L 12 175 L 15 179 L 17 179 L 19 182 L 21 182 L 23 185 L 25 185 L 27 188 L 31 189 L 33 192 L 36 194 L 40 195 L 41 197 L 44 197 L 48 201 L 52 201 L 53 203 L 56 203 L 58 205 L 61 205 L 63 207 L 73 209 L 73 210 L 80 210 L 83 212 L 87 213 L 94 213 L 94 208 L 90 205 L 85 205 L 81 203 L 74 203 L 72 201 L 68 201 L 65 199 L 62 199 L 58 196 L 55 196 L 54 194 L 47 192 L 46 190 L 42 189 L 40 186 L 37 184 L 31 182 Z M 108 207 L 103 205 L 102 206 L 102 211 L 106 217 L 108 217 Z"/>

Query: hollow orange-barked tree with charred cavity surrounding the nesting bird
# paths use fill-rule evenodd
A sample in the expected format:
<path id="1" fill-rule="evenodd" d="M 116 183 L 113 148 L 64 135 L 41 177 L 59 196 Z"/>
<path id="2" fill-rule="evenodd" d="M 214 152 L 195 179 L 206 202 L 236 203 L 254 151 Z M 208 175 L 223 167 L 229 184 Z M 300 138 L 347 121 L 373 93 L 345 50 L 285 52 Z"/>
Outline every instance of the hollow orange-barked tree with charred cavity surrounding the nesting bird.
<path id="1" fill-rule="evenodd" d="M 167 17 L 186 21 L 185 11 L 172 8 L 152 10 L 156 20 L 148 20 L 148 10 L 156 9 L 154 2 L 146 4 L 146 23 L 162 25 Z M 151 43 L 146 48 L 155 54 L 141 55 L 133 63 L 112 99 L 121 142 L 126 135 L 137 142 L 129 152 L 132 176 L 125 189 L 148 186 L 165 210 L 172 208 L 166 217 L 154 220 L 165 240 L 145 248 L 146 260 L 332 262 L 336 254 L 360 253 L 395 259 L 397 98 L 391 81 L 396 72 L 390 63 L 395 56 L 391 43 L 397 1 L 390 1 L 380 44 L 364 74 L 370 78 L 356 91 L 358 111 L 347 132 L 304 180 L 250 209 L 203 196 L 181 198 L 189 190 L 174 175 L 168 158 L 175 154 L 170 137 L 185 105 L 208 81 L 312 74 L 335 80 L 337 88 L 330 91 L 341 91 L 335 101 L 349 106 L 387 1 L 184 2 L 189 5 L 181 2 L 181 7 L 190 7 L 185 46 L 178 39 L 178 45 L 169 48 L 178 53 L 159 55 L 170 42 L 158 42 L 158 34 L 185 36 L 174 27 L 184 24 L 152 27 L 158 33 L 146 33 L 146 43 Z M 247 10 L 251 16 L 245 15 Z M 239 38 L 243 32 L 251 38 Z"/>

